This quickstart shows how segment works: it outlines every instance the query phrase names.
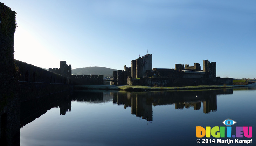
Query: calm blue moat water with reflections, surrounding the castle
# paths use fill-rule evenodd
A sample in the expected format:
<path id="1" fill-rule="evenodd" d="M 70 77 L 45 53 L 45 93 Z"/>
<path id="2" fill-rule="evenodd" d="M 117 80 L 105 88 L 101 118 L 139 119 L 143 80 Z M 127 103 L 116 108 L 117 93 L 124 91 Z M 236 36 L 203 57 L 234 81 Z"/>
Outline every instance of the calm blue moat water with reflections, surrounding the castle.
<path id="1" fill-rule="evenodd" d="M 254 137 L 239 138 L 252 139 L 252 144 L 237 144 L 238 138 L 226 136 L 197 138 L 196 126 L 225 126 L 222 121 L 229 118 L 237 122 L 232 126 L 232 134 L 236 133 L 236 126 L 255 128 L 255 95 L 256 87 L 164 92 L 77 91 L 37 115 L 34 121 L 21 121 L 20 145 L 252 146 L 256 145 Z M 199 144 L 197 139 L 201 140 Z M 215 143 L 203 144 L 203 139 L 215 139 Z M 218 144 L 217 139 L 230 139 L 233 144 Z"/>

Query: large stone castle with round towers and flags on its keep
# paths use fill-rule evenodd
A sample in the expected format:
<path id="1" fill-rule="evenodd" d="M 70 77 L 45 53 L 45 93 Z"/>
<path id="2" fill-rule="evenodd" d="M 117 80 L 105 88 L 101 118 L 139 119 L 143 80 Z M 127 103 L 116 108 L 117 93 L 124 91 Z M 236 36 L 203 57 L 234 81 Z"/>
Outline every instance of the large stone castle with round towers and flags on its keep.
<path id="1" fill-rule="evenodd" d="M 152 54 L 131 61 L 131 67 L 113 71 L 110 85 L 147 85 L 147 86 L 193 86 L 193 85 L 232 85 L 232 78 L 216 76 L 216 62 L 203 60 L 193 66 L 175 64 L 175 69 L 153 68 Z"/>

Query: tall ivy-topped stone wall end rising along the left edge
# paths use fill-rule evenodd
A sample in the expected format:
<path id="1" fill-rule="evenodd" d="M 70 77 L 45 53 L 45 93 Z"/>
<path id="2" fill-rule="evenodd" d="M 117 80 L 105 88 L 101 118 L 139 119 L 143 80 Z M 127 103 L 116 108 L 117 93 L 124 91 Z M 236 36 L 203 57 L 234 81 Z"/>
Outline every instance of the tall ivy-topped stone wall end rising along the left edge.
<path id="1" fill-rule="evenodd" d="M 0 2 L 0 145 L 20 144 L 20 100 L 14 64 L 16 13 Z"/>

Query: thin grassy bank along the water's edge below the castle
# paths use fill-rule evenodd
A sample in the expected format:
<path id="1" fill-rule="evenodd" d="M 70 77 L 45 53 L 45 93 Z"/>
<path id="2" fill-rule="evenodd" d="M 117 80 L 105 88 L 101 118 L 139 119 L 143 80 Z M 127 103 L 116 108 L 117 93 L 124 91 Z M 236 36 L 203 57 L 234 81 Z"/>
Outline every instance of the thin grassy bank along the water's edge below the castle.
<path id="1" fill-rule="evenodd" d="M 236 87 L 255 87 L 256 83 L 249 85 L 203 85 L 186 87 L 150 87 L 144 85 L 74 85 L 74 90 L 118 90 L 118 91 L 167 91 L 167 90 L 201 90 L 201 89 L 221 89 Z"/>

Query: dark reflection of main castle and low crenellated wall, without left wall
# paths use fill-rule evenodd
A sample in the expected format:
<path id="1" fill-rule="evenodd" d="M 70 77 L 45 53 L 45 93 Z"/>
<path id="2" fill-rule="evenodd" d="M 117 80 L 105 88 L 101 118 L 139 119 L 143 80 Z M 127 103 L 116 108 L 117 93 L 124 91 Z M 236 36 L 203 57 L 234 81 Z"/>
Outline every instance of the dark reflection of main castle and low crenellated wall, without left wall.
<path id="1" fill-rule="evenodd" d="M 233 94 L 233 89 L 193 90 L 193 91 L 157 91 L 157 92 L 74 92 L 74 101 L 101 103 L 113 101 L 113 104 L 131 107 L 131 114 L 145 120 L 153 120 L 153 106 L 173 105 L 175 109 L 194 108 L 210 113 L 217 110 L 217 95 Z"/>

